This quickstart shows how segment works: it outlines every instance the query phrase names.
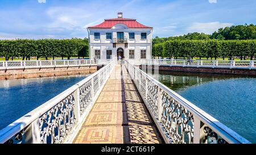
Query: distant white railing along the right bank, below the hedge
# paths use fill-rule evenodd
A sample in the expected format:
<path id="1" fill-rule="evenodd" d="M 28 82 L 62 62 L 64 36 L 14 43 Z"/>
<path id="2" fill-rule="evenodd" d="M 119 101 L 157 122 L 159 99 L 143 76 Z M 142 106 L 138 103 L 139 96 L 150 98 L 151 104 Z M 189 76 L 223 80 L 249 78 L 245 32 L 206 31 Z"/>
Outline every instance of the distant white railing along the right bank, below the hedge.
<path id="1" fill-rule="evenodd" d="M 183 66 L 196 68 L 240 68 L 256 69 L 256 61 L 247 60 L 179 60 L 179 59 L 148 59 L 133 61 L 134 64 Z"/>

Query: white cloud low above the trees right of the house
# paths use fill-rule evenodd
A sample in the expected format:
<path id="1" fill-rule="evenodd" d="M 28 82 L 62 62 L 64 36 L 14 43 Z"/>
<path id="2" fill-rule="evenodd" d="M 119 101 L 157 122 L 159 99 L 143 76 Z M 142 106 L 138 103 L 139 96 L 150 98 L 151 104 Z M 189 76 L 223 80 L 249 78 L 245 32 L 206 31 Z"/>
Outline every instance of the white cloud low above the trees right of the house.
<path id="1" fill-rule="evenodd" d="M 224 28 L 227 26 L 232 26 L 232 23 L 220 23 L 220 22 L 210 22 L 210 23 L 192 23 L 191 26 L 187 28 L 188 32 L 204 32 L 211 34 L 217 31 L 218 28 Z"/>

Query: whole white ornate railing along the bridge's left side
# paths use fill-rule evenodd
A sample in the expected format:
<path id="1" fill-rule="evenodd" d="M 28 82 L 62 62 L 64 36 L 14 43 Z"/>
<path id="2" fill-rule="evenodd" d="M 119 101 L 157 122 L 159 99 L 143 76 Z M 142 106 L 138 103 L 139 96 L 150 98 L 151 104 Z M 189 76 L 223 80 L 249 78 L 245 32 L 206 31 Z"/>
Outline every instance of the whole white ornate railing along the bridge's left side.
<path id="1" fill-rule="evenodd" d="M 70 143 L 114 65 L 115 60 L 110 61 L 96 73 L 3 128 L 0 143 Z"/>

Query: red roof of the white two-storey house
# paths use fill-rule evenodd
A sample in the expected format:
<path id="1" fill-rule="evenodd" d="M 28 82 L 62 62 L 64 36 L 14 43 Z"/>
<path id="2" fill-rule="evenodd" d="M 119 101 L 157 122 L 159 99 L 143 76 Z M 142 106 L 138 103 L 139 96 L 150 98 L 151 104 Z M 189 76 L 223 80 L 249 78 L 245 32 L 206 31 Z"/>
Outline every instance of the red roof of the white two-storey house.
<path id="1" fill-rule="evenodd" d="M 112 28 L 115 24 L 122 23 L 125 24 L 129 28 L 152 28 L 148 26 L 144 26 L 143 24 L 136 21 L 136 19 L 129 18 L 113 18 L 113 19 L 105 19 L 105 21 L 97 26 L 91 26 L 88 28 Z"/>

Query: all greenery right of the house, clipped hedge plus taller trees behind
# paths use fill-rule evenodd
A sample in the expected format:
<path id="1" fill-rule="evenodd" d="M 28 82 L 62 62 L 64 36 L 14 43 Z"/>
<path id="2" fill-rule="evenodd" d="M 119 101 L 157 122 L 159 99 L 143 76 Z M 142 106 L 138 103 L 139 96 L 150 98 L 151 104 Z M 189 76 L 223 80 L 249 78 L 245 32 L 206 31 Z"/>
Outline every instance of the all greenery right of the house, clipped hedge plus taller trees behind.
<path id="1" fill-rule="evenodd" d="M 188 33 L 183 36 L 158 37 L 152 40 L 152 56 L 155 57 L 234 57 L 255 58 L 256 26 L 238 25 L 220 28 L 212 35 Z"/>

